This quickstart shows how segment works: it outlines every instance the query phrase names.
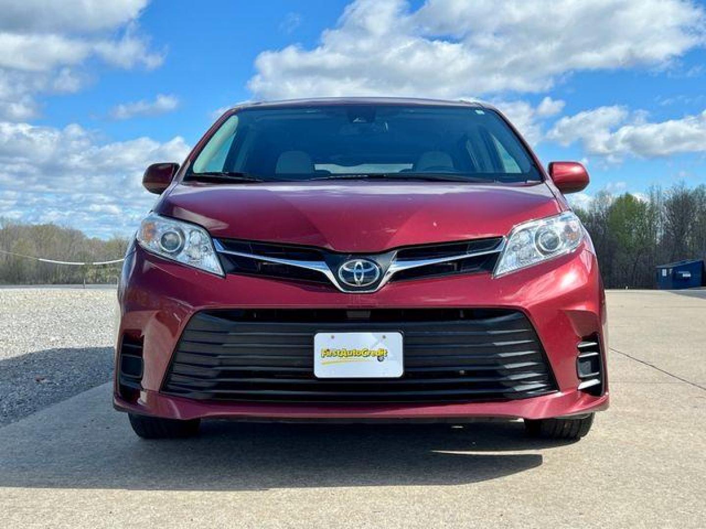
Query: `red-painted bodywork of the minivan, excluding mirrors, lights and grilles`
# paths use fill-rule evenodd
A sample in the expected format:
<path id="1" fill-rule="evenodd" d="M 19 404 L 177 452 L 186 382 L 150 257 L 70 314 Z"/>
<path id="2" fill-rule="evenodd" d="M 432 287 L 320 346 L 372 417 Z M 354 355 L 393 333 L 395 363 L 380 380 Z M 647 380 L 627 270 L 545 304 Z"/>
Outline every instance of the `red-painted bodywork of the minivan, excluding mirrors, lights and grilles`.
<path id="1" fill-rule="evenodd" d="M 316 104 L 377 102 L 333 99 Z M 408 99 L 400 103 L 409 104 Z M 390 99 L 380 102 L 390 104 Z M 301 102 L 275 103 L 287 106 Z M 424 104 L 452 104 L 424 102 Z M 345 253 L 378 253 L 406 245 L 507 236 L 513 226 L 566 211 L 568 204 L 542 183 L 301 182 L 215 185 L 184 182 L 186 167 L 208 131 L 162 195 L 155 212 L 204 226 L 212 236 L 311 245 Z M 529 147 L 527 147 L 529 150 Z M 531 152 L 531 150 L 530 150 Z M 424 419 L 552 418 L 605 409 L 604 393 L 578 390 L 577 346 L 597 334 L 605 343 L 605 299 L 589 238 L 569 255 L 493 278 L 491 274 L 390 282 L 376 293 L 342 293 L 330 285 L 201 272 L 140 247 L 128 253 L 119 288 L 118 336 L 144 340 L 143 390 L 136 402 L 114 392 L 116 408 L 164 418 Z M 189 319 L 213 308 L 511 308 L 527 315 L 558 384 L 546 396 L 472 403 L 322 405 L 204 402 L 160 394 L 174 348 Z M 313 354 L 313 351 L 312 351 Z M 604 356 L 604 352 L 602 353 Z M 603 358 L 603 365 L 605 358 Z"/>

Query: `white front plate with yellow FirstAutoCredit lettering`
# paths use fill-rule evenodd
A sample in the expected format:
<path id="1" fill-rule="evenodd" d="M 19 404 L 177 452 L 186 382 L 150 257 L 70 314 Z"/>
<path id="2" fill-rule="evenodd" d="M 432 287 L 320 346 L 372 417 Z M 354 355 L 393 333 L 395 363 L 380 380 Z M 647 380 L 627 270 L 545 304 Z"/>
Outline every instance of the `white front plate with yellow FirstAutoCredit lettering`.
<path id="1" fill-rule="evenodd" d="M 319 332 L 313 338 L 317 378 L 399 378 L 402 333 Z"/>

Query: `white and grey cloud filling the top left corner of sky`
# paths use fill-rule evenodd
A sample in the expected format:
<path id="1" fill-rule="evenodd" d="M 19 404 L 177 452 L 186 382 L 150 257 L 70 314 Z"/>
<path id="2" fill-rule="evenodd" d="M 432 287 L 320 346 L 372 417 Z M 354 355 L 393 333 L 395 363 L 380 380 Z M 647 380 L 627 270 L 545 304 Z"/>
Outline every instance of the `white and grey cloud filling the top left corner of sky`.
<path id="1" fill-rule="evenodd" d="M 76 92 L 98 57 L 117 68 L 156 68 L 136 20 L 147 0 L 0 0 L 0 119 L 23 121 L 40 111 L 42 93 Z"/>

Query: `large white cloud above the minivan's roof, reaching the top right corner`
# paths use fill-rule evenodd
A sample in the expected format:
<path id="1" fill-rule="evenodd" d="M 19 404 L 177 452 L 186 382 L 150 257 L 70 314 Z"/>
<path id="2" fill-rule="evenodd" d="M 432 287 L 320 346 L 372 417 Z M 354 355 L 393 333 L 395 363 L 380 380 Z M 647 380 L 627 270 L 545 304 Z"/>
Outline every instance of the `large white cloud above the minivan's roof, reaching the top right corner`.
<path id="1" fill-rule="evenodd" d="M 686 0 L 357 0 L 313 49 L 264 51 L 264 99 L 539 92 L 573 71 L 664 66 L 705 42 Z M 546 109 L 554 111 L 554 109 Z"/>

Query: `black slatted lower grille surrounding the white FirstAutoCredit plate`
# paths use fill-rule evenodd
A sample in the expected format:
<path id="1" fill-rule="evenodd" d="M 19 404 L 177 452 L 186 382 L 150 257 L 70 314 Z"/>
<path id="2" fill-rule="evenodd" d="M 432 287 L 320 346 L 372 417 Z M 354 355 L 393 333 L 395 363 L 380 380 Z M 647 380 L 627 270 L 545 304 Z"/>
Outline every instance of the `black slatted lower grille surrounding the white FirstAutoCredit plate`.
<path id="1" fill-rule="evenodd" d="M 402 378 L 316 379 L 313 336 L 334 330 L 402 332 Z M 521 312 L 213 310 L 187 324 L 162 391 L 209 401 L 459 402 L 525 399 L 556 383 Z"/>

